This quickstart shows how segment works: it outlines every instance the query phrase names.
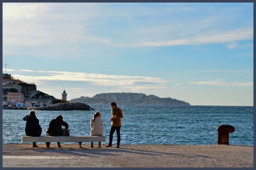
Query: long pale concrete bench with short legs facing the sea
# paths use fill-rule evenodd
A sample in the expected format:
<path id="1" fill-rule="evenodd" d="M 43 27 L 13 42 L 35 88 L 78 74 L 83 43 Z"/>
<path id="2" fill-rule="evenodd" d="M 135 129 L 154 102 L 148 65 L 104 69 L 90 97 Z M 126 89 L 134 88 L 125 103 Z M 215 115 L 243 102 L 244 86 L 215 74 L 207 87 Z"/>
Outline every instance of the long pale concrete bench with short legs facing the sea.
<path id="1" fill-rule="evenodd" d="M 81 148 L 82 142 L 106 142 L 106 136 L 21 136 L 21 142 L 78 142 Z"/>

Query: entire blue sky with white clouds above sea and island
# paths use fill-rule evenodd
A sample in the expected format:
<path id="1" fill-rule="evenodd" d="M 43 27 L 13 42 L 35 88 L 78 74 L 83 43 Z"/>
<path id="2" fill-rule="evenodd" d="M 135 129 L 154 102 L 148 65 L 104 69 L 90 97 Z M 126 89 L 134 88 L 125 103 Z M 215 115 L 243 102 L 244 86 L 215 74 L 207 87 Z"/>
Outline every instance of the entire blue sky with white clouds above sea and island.
<path id="1" fill-rule="evenodd" d="M 2 73 L 56 98 L 253 106 L 253 3 L 3 3 L 2 17 Z"/>

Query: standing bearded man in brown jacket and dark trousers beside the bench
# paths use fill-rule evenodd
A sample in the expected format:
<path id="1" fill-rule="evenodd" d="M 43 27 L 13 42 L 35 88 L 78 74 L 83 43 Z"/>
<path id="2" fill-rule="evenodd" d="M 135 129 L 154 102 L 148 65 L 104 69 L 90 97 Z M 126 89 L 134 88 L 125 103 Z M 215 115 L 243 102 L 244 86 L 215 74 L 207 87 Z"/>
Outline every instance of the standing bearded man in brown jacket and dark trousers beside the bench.
<path id="1" fill-rule="evenodd" d="M 112 117 L 110 118 L 110 121 L 112 121 L 112 123 L 111 123 L 111 129 L 110 129 L 110 140 L 109 140 L 108 145 L 106 145 L 106 147 L 112 146 L 113 134 L 114 134 L 114 131 L 116 130 L 116 132 L 117 132 L 117 148 L 119 148 L 120 128 L 121 128 L 121 119 L 123 118 L 123 112 L 121 109 L 119 109 L 116 106 L 115 102 L 111 102 L 110 106 L 112 108 L 112 110 L 111 110 Z"/>

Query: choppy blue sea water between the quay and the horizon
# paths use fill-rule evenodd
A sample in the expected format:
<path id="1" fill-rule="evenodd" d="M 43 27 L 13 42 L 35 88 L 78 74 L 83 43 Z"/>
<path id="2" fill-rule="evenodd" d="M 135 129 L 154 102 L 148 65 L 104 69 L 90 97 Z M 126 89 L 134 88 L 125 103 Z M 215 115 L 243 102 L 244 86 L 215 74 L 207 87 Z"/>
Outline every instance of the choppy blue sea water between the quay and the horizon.
<path id="1" fill-rule="evenodd" d="M 52 118 L 61 114 L 69 124 L 70 135 L 90 135 L 90 120 L 101 113 L 106 143 L 111 128 L 109 104 L 90 104 L 95 111 L 35 111 L 42 135 Z M 123 111 L 122 144 L 215 145 L 217 127 L 235 127 L 229 134 L 230 145 L 253 145 L 253 107 L 251 106 L 155 106 L 118 105 Z M 3 109 L 2 143 L 22 143 L 25 135 L 25 115 L 28 110 Z M 116 132 L 113 144 L 116 144 Z"/>

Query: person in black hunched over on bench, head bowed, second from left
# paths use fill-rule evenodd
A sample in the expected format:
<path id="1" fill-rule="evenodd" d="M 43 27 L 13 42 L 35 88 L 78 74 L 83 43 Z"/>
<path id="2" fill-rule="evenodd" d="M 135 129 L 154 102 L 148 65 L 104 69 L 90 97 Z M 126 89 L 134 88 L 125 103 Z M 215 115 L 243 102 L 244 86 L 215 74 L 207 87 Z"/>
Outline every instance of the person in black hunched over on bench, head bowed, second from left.
<path id="1" fill-rule="evenodd" d="M 50 121 L 49 127 L 46 130 L 48 136 L 63 136 L 62 126 L 65 126 L 65 129 L 68 129 L 68 124 L 63 121 L 62 115 L 58 115 L 55 119 Z M 57 142 L 58 147 L 60 146 L 60 142 Z M 50 147 L 50 142 L 46 143 L 47 147 Z"/>

